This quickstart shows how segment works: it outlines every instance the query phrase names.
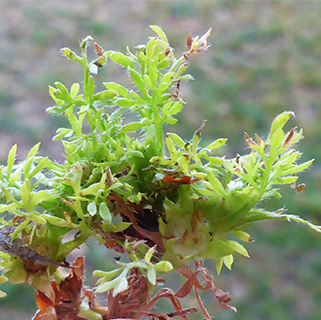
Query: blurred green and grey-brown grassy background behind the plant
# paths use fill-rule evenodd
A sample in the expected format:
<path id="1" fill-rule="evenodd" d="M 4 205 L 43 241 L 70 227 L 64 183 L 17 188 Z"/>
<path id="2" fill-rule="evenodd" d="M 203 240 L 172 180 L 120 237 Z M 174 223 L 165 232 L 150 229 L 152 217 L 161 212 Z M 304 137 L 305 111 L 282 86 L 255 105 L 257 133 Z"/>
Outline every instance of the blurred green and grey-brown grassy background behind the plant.
<path id="1" fill-rule="evenodd" d="M 288 129 L 304 128 L 302 161 L 315 162 L 299 180 L 307 184 L 303 193 L 286 187 L 282 199 L 266 205 L 286 204 L 289 213 L 321 224 L 321 2 L 1 0 L 0 12 L 1 163 L 13 144 L 18 143 L 22 160 L 38 141 L 42 155 L 62 161 L 61 145 L 51 138 L 65 123 L 45 113 L 53 105 L 48 85 L 61 81 L 69 87 L 82 74 L 60 48 L 77 51 L 90 34 L 105 50 L 125 51 L 126 45 L 146 43 L 153 35 L 149 25 L 156 24 L 179 56 L 189 32 L 199 35 L 212 27 L 212 46 L 191 58 L 189 72 L 196 81 L 184 83 L 188 103 L 180 125 L 171 130 L 190 139 L 207 119 L 204 143 L 227 137 L 224 152 L 235 156 L 248 152 L 244 131 L 264 136 L 277 114 L 293 110 L 296 118 Z M 97 83 L 124 77 L 110 63 Z M 232 271 L 215 276 L 238 313 L 221 309 L 204 293 L 210 313 L 220 320 L 321 319 L 321 235 L 286 222 L 264 223 L 250 233 L 256 241 L 247 246 L 251 258 L 239 256 Z M 90 246 L 88 270 L 108 269 L 105 250 Z M 207 266 L 215 272 L 213 264 Z M 93 283 L 90 273 L 87 279 Z M 0 301 L 0 320 L 30 319 L 36 310 L 33 290 L 23 285 L 1 289 L 8 296 Z M 185 304 L 194 305 L 195 297 Z"/>

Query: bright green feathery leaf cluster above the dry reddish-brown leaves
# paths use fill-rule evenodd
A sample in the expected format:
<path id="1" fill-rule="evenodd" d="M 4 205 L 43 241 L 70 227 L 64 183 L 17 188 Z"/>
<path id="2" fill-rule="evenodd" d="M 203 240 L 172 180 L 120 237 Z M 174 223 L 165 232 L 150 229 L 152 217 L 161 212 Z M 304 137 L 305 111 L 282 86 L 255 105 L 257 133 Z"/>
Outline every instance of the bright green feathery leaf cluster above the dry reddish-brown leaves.
<path id="1" fill-rule="evenodd" d="M 164 132 L 185 105 L 180 86 L 193 79 L 185 73 L 189 58 L 208 48 L 210 30 L 189 35 L 187 52 L 176 58 L 163 30 L 151 28 L 157 36 L 135 52 L 105 51 L 94 43 L 90 61 L 90 36 L 80 44 L 81 55 L 62 49 L 84 70 L 82 85 L 49 88 L 55 106 L 47 111 L 70 124 L 53 138 L 63 143 L 65 163 L 37 156 L 37 144 L 21 163 L 15 163 L 14 146 L 0 167 L 2 235 L 39 255 L 30 261 L 16 253 L 18 246 L 9 253 L 0 248 L 0 268 L 12 282 L 28 280 L 42 290 L 52 277 L 63 281 L 58 265 L 89 237 L 129 257 L 115 270 L 94 272 L 96 292 L 117 296 L 128 290 L 131 270 L 154 287 L 158 276 L 198 259 L 216 259 L 218 272 L 223 264 L 231 268 L 234 253 L 248 256 L 239 241 L 253 240 L 245 229 L 256 221 L 293 220 L 321 231 L 284 209 L 262 206 L 262 200 L 281 197 L 280 185 L 304 188 L 295 184 L 297 174 L 312 161 L 298 163 L 294 146 L 302 130 L 283 130 L 293 113 L 280 114 L 265 140 L 245 134 L 250 152 L 233 159 L 215 155 L 225 138 L 201 147 L 205 123 L 191 140 Z M 108 60 L 127 72 L 132 88 L 108 81 L 96 92 L 95 75 Z"/>

